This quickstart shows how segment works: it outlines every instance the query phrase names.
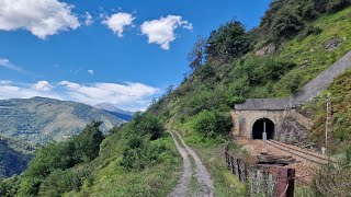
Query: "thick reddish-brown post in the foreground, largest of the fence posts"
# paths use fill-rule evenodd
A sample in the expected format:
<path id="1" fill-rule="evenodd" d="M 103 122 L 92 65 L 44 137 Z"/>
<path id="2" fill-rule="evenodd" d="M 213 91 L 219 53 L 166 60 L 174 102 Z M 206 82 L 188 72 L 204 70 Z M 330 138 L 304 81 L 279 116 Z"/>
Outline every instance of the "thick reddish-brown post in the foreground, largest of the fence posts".
<path id="1" fill-rule="evenodd" d="M 295 170 L 280 167 L 278 173 L 278 197 L 294 197 Z"/>

